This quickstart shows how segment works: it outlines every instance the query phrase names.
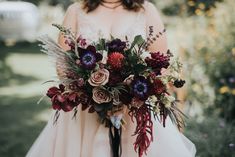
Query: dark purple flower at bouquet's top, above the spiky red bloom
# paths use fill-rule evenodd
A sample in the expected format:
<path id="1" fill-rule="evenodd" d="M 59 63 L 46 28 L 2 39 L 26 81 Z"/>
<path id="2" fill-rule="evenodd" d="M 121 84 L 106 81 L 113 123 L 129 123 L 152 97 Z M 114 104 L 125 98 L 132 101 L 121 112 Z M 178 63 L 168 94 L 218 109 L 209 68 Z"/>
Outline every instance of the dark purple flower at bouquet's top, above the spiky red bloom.
<path id="1" fill-rule="evenodd" d="M 121 41 L 120 39 L 114 39 L 107 44 L 109 52 L 123 52 L 126 48 L 126 42 Z"/>

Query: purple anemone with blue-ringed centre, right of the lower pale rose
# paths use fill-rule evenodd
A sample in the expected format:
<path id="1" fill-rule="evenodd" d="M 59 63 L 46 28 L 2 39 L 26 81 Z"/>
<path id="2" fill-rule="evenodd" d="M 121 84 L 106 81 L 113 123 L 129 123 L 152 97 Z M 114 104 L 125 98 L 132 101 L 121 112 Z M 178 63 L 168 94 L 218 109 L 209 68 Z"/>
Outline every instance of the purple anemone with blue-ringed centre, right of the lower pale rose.
<path id="1" fill-rule="evenodd" d="M 132 90 L 135 97 L 140 100 L 146 100 L 150 93 L 150 83 L 143 76 L 134 77 L 132 81 Z"/>

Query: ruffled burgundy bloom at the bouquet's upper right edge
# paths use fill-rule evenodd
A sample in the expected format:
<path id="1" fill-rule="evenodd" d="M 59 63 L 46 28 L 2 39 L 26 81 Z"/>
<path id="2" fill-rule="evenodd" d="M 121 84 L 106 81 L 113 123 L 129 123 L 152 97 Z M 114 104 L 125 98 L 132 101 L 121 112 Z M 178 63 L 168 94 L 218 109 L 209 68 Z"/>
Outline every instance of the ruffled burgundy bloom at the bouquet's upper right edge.
<path id="1" fill-rule="evenodd" d="M 160 52 L 151 52 L 151 58 L 147 57 L 145 59 L 145 62 L 147 63 L 148 66 L 153 68 L 154 72 L 156 75 L 161 75 L 161 69 L 165 68 L 167 69 L 170 65 L 170 56 L 169 55 L 164 55 L 163 53 Z"/>

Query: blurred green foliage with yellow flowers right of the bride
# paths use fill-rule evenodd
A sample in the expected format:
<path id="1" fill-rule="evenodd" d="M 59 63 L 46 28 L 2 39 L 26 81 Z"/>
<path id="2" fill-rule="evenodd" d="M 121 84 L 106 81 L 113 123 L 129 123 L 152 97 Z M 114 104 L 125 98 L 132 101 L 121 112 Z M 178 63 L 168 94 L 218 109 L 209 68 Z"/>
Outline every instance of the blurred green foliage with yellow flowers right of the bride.
<path id="1" fill-rule="evenodd" d="M 162 8 L 167 6 L 181 7 L 169 3 Z M 186 127 L 198 157 L 235 157 L 234 8 L 234 0 L 224 0 L 215 3 L 210 13 L 191 16 L 185 8 L 177 16 L 167 16 L 184 58 L 186 106 L 201 111 Z"/>

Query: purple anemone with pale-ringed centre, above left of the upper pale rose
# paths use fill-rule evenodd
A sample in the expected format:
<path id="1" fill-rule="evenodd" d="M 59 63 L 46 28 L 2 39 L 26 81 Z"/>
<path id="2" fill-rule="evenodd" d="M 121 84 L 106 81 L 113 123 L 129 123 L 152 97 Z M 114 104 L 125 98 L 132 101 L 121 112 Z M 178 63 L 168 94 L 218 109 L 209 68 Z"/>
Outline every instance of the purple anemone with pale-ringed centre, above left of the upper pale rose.
<path id="1" fill-rule="evenodd" d="M 88 46 L 86 49 L 79 48 L 79 57 L 81 66 L 85 69 L 94 69 L 96 63 L 102 60 L 102 55 L 96 52 L 94 46 Z"/>

